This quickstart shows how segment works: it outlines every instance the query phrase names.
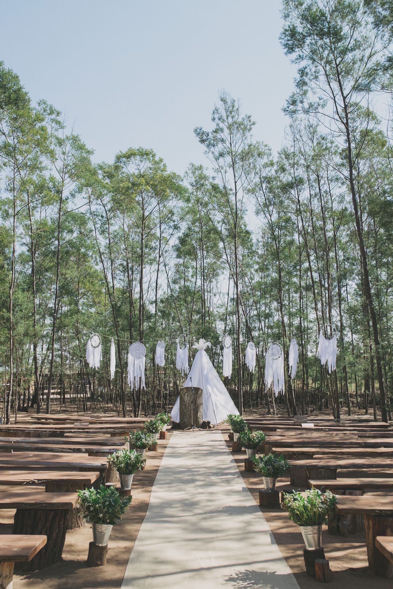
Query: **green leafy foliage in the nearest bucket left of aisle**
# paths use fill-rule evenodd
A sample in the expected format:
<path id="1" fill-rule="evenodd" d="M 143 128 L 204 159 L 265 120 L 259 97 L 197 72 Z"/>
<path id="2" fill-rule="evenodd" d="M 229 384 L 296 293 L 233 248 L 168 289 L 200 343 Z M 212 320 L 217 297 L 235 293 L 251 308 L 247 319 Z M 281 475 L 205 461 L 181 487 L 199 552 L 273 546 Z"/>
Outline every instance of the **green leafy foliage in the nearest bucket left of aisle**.
<path id="1" fill-rule="evenodd" d="M 115 487 L 84 489 L 78 492 L 84 515 L 93 524 L 117 524 L 131 503 L 132 497 L 121 497 Z"/>

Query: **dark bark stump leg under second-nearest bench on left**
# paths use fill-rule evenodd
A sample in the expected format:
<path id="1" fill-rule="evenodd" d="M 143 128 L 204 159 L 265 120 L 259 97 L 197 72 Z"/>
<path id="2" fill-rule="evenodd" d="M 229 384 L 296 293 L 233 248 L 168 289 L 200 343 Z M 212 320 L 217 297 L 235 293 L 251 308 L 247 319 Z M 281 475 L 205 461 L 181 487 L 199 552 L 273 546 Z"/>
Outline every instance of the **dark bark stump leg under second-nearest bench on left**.
<path id="1" fill-rule="evenodd" d="M 16 562 L 18 571 L 35 571 L 61 560 L 70 509 L 16 509 L 12 534 L 42 534 L 47 544 L 28 562 Z"/>

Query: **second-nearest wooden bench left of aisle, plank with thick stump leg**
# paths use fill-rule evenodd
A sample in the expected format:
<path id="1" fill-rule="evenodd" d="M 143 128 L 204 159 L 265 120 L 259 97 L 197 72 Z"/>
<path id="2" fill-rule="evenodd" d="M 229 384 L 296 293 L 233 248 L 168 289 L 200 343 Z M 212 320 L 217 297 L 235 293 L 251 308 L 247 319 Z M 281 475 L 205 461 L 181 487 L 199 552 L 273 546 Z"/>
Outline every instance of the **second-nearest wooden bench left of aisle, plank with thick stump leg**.
<path id="1" fill-rule="evenodd" d="M 33 571 L 61 560 L 67 516 L 77 505 L 77 493 L 45 493 L 37 489 L 0 491 L 0 509 L 16 509 L 12 534 L 47 536 L 47 544 L 18 570 Z"/>

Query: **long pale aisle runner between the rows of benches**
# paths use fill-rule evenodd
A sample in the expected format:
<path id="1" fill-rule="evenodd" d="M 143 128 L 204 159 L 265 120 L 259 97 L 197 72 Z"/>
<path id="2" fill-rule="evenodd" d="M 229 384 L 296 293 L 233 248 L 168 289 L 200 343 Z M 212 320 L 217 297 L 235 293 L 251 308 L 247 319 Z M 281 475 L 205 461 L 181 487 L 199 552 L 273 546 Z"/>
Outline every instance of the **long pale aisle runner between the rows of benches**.
<path id="1" fill-rule="evenodd" d="M 122 587 L 224 585 L 299 589 L 221 432 L 177 431 L 158 470 Z"/>

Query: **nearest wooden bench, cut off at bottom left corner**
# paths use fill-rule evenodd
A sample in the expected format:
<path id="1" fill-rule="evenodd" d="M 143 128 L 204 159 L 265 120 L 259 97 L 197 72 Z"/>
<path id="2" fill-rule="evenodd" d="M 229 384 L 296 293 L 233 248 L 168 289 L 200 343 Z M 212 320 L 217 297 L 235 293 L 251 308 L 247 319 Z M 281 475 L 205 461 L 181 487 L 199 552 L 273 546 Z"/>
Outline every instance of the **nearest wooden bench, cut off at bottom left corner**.
<path id="1" fill-rule="evenodd" d="M 0 535 L 0 589 L 12 589 L 15 562 L 31 561 L 47 543 L 44 535 Z"/>

